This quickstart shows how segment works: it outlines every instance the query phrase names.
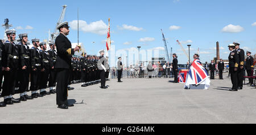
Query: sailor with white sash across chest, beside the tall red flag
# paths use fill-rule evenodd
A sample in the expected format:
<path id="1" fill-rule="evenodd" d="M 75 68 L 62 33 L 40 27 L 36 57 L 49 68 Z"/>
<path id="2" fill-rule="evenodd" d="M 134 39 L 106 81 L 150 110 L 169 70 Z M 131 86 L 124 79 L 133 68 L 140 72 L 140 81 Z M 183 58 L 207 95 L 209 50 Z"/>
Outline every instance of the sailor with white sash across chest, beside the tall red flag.
<path id="1" fill-rule="evenodd" d="M 100 60 L 97 63 L 98 69 L 101 71 L 101 89 L 107 89 L 108 87 L 105 86 L 106 84 L 106 58 L 104 57 L 104 50 L 100 51 Z"/>

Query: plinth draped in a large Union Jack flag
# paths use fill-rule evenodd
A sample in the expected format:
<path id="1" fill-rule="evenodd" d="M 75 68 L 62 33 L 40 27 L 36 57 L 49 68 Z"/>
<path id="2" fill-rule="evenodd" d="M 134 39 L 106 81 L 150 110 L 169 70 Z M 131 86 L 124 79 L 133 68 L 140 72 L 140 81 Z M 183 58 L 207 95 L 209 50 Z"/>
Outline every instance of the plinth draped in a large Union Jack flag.
<path id="1" fill-rule="evenodd" d="M 209 89 L 210 87 L 210 79 L 208 73 L 202 66 L 202 63 L 199 59 L 195 59 L 191 64 L 191 67 L 187 73 L 184 88 L 190 89 L 191 85 L 205 85 L 204 89 Z"/>

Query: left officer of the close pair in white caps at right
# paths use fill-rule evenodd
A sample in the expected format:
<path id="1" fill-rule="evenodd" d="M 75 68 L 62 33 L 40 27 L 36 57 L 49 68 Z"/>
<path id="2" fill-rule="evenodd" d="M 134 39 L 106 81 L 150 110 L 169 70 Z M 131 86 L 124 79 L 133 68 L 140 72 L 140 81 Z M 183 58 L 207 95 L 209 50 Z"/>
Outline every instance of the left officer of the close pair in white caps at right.
<path id="1" fill-rule="evenodd" d="M 238 63 L 239 63 L 239 56 L 236 52 L 235 45 L 229 44 L 229 72 L 232 81 L 232 89 L 230 91 L 237 91 L 238 88 L 238 79 L 237 79 L 237 70 L 238 70 Z"/>

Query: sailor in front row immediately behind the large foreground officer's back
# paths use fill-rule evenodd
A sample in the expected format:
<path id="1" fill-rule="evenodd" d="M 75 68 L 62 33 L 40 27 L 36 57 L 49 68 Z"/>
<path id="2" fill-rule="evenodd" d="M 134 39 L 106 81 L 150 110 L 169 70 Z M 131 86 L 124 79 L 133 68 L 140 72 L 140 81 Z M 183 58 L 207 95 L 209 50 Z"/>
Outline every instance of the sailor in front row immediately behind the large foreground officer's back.
<path id="1" fill-rule="evenodd" d="M 51 47 L 50 50 L 48 50 L 49 53 L 49 93 L 54 94 L 56 93 L 56 72 L 54 69 L 56 59 L 57 59 L 57 51 L 55 50 L 55 44 L 53 42 L 49 43 L 49 46 Z"/>

